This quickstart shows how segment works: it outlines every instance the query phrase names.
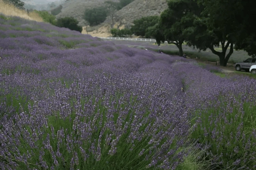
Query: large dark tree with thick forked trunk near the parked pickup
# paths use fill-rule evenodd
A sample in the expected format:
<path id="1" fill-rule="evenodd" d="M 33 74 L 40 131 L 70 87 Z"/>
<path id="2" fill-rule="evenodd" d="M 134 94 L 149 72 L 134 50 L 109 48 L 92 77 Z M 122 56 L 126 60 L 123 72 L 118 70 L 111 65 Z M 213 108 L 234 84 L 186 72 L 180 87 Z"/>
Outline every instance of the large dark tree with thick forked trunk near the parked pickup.
<path id="1" fill-rule="evenodd" d="M 183 31 L 189 39 L 188 44 L 199 50 L 209 48 L 213 54 L 219 56 L 220 65 L 226 66 L 234 52 L 234 44 L 239 40 L 237 34 L 243 27 L 245 11 L 242 0 L 196 1 L 204 9 L 199 15 L 194 15 L 193 26 Z M 214 49 L 220 46 L 221 52 Z"/>

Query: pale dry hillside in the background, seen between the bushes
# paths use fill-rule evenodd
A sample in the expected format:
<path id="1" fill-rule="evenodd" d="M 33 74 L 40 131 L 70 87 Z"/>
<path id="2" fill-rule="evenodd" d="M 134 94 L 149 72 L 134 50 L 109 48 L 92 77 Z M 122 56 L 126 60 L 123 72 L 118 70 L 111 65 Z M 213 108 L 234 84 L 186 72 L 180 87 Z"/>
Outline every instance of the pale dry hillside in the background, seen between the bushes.
<path id="1" fill-rule="evenodd" d="M 63 9 L 60 14 L 56 17 L 64 17 L 64 16 L 74 16 L 81 26 L 85 26 L 87 22 L 82 19 L 84 15 L 84 11 L 86 8 L 95 7 L 99 5 L 103 5 L 106 0 L 72 0 L 63 3 Z M 118 1 L 118 0 L 113 0 Z M 115 26 L 117 27 L 129 27 L 131 26 L 134 19 L 139 19 L 145 16 L 153 16 L 153 15 L 160 15 L 167 8 L 166 0 L 135 0 L 132 3 L 128 4 L 127 6 L 123 7 L 121 10 L 116 12 L 115 14 Z M 109 32 L 110 26 L 112 25 L 112 19 L 107 17 L 106 21 L 100 25 L 100 27 L 107 29 L 100 29 L 104 30 L 103 32 Z M 94 27 L 93 29 L 99 29 L 98 27 Z"/>

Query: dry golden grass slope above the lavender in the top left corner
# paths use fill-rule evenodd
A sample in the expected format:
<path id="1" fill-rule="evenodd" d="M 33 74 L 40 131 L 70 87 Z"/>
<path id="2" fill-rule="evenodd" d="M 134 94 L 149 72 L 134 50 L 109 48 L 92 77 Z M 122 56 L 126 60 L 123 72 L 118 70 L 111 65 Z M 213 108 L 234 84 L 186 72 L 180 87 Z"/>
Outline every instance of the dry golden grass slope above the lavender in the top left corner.
<path id="1" fill-rule="evenodd" d="M 20 10 L 14 5 L 5 4 L 2 0 L 0 0 L 0 13 L 6 16 L 16 16 L 28 20 L 43 22 L 43 19 L 38 14 L 31 12 L 28 15 L 26 11 Z"/>

